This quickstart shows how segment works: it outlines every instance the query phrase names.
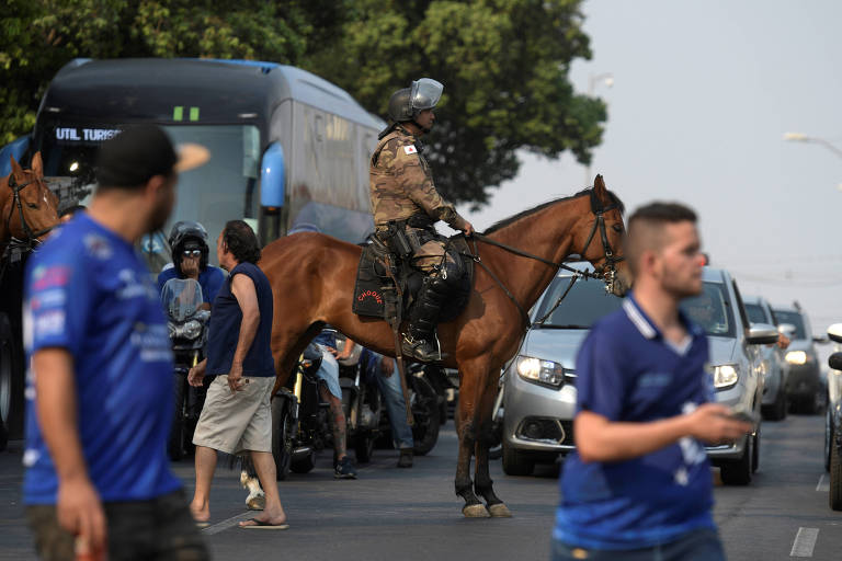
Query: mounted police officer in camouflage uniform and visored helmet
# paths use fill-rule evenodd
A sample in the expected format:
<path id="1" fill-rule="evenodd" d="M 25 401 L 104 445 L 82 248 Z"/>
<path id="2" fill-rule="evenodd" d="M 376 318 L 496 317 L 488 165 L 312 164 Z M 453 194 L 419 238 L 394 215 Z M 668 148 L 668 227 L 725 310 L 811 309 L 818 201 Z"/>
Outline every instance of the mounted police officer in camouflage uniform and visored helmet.
<path id="1" fill-rule="evenodd" d="M 421 78 L 389 99 L 391 124 L 379 135 L 369 178 L 372 211 L 378 238 L 424 274 L 423 285 L 409 311 L 402 350 L 421 362 L 441 359 L 435 327 L 441 309 L 459 288 L 465 267 L 456 252 L 445 253 L 445 239 L 434 224 L 444 220 L 466 236 L 474 227 L 445 202 L 433 184 L 419 137 L 435 121 L 433 107 L 444 87 Z"/>

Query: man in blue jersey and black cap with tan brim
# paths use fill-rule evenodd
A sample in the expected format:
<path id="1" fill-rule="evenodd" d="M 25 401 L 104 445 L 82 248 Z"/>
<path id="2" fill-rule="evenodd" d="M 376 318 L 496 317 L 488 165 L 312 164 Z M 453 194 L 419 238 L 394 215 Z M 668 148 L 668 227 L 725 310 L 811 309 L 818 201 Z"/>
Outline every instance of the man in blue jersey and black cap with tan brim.
<path id="1" fill-rule="evenodd" d="M 163 226 L 181 157 L 153 125 L 103 144 L 87 213 L 26 267 L 31 356 L 23 497 L 42 559 L 206 559 L 166 454 L 172 353 L 158 290 L 134 249 Z"/>

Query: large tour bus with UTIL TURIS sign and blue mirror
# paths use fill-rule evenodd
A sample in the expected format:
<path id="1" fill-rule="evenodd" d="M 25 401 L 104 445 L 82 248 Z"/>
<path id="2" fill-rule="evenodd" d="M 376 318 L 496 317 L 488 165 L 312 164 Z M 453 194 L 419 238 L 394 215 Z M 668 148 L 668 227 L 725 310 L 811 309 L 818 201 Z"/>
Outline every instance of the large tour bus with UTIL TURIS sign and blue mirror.
<path id="1" fill-rule="evenodd" d="M 201 222 L 213 240 L 226 221 L 243 219 L 263 244 L 300 225 L 352 243 L 374 231 L 368 159 L 385 123 L 329 81 L 274 62 L 75 59 L 47 88 L 32 134 L 0 150 L 0 176 L 9 156 L 29 162 L 41 151 L 60 208 L 84 204 L 99 146 L 136 123 L 156 123 L 174 144 L 210 152 L 208 163 L 181 174 L 169 224 L 141 243 L 152 273 L 171 260 L 167 233 L 179 220 Z M 216 264 L 216 252 L 209 256 Z M 20 334 L 20 318 L 9 322 Z M 0 364 L 0 412 L 15 437 L 23 386 L 3 373 L 22 377 L 23 360 L 12 336 L 16 367 Z"/>

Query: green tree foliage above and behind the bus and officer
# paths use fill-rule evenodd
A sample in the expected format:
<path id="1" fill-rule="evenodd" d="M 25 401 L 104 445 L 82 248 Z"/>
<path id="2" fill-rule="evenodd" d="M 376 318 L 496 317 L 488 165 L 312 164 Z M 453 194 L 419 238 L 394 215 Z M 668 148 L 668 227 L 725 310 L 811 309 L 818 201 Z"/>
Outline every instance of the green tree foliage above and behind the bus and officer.
<path id="1" fill-rule="evenodd" d="M 73 57 L 247 58 L 291 64 L 385 115 L 391 92 L 445 84 L 430 145 L 436 184 L 481 204 L 515 150 L 588 162 L 605 105 L 578 95 L 590 58 L 581 0 L 7 0 L 0 142 L 31 130 L 49 79 Z M 9 15 L 11 14 L 11 15 Z"/>

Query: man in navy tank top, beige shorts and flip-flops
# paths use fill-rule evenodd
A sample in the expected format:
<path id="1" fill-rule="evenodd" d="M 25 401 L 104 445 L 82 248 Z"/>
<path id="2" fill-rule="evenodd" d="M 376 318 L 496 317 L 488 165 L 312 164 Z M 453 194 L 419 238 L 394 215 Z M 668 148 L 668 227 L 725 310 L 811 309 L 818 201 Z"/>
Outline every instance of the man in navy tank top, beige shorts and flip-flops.
<path id="1" fill-rule="evenodd" d="M 286 529 L 272 457 L 272 287 L 257 265 L 258 238 L 244 221 L 225 225 L 216 253 L 219 265 L 228 270 L 228 278 L 210 309 L 207 358 L 187 376 L 190 383 L 198 387 L 205 375 L 216 375 L 193 434 L 196 489 L 190 510 L 198 524 L 207 525 L 217 450 L 234 455 L 249 451 L 266 501 L 263 512 L 240 527 Z"/>

